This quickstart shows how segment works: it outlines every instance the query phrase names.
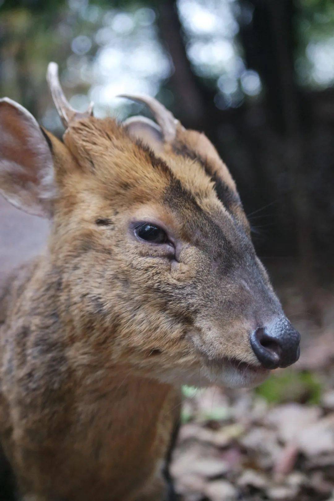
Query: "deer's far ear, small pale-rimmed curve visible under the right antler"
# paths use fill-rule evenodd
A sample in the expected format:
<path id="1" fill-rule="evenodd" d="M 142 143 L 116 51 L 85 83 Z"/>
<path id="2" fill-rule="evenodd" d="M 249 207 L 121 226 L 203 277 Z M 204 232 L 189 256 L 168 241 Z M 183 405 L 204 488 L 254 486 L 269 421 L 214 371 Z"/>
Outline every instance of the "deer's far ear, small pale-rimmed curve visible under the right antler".
<path id="1" fill-rule="evenodd" d="M 131 117 L 123 122 L 123 127 L 133 139 L 140 139 L 155 153 L 164 149 L 161 128 L 153 120 L 146 117 Z"/>

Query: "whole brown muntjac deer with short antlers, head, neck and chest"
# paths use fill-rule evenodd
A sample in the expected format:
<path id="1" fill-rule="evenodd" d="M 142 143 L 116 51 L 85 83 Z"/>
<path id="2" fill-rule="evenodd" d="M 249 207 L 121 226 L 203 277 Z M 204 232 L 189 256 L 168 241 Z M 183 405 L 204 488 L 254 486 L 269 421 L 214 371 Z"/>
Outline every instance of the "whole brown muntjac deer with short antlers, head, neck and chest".
<path id="1" fill-rule="evenodd" d="M 79 113 L 48 81 L 64 142 L 0 103 L 0 191 L 51 220 L 0 303 L 3 460 L 25 501 L 171 499 L 180 385 L 256 385 L 299 334 L 204 134 L 144 96 L 157 124 Z"/>

